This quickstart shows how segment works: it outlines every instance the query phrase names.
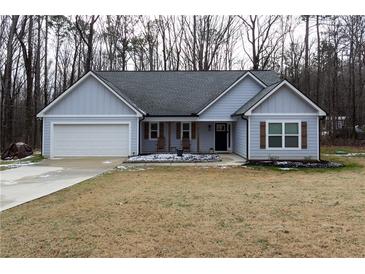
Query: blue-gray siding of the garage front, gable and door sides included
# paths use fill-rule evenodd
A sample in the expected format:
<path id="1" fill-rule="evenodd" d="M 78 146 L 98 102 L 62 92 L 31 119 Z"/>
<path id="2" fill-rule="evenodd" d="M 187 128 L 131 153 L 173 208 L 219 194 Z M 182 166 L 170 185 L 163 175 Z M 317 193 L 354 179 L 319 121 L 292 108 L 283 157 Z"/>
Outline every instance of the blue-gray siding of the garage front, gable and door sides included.
<path id="1" fill-rule="evenodd" d="M 139 118 L 93 76 L 88 76 L 53 105 L 43 117 L 42 155 L 51 155 L 52 123 L 130 123 L 131 155 L 138 154 Z"/>

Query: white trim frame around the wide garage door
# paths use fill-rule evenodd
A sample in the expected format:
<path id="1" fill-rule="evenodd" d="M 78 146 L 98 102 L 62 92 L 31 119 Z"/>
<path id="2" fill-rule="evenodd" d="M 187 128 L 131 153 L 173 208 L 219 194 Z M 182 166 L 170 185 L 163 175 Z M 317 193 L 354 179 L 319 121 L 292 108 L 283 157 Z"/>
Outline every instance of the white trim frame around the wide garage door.
<path id="1" fill-rule="evenodd" d="M 55 125 L 128 125 L 128 134 L 129 134 L 129 152 L 128 155 L 132 155 L 132 127 L 131 127 L 131 122 L 117 122 L 117 121 L 111 121 L 111 122 L 105 122 L 105 121 L 97 121 L 97 122 L 91 122 L 91 121 L 86 121 L 86 122 L 81 122 L 81 121 L 75 121 L 75 122 L 69 122 L 69 121 L 57 121 L 57 122 L 51 122 L 50 123 L 50 133 L 49 133 L 49 141 L 50 141 L 50 149 L 49 149 L 49 157 L 53 158 L 54 157 L 54 126 Z M 128 156 L 126 155 L 126 156 Z M 61 157 L 82 157 L 85 155 L 72 155 L 72 156 L 67 156 L 67 155 L 62 155 Z M 111 157 L 111 155 L 97 155 L 97 157 Z M 124 156 L 124 155 L 123 155 Z M 92 155 L 88 155 L 88 157 L 96 157 L 96 156 L 92 156 Z M 113 155 L 114 157 L 114 155 Z"/>

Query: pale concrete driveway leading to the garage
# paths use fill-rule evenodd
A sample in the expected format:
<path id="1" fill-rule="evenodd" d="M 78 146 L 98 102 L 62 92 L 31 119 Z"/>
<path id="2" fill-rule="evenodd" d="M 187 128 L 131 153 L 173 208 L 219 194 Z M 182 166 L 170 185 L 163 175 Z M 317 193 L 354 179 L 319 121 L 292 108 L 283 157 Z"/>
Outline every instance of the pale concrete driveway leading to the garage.
<path id="1" fill-rule="evenodd" d="M 0 211 L 40 198 L 108 171 L 123 158 L 46 159 L 0 171 Z"/>

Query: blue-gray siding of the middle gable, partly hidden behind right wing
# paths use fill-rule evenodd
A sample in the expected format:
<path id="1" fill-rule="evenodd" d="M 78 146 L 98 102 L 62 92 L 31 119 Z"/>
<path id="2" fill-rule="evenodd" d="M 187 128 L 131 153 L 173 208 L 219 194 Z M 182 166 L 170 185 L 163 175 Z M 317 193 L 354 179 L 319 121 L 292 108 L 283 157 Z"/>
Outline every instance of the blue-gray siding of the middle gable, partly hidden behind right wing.
<path id="1" fill-rule="evenodd" d="M 200 115 L 200 119 L 231 120 L 231 115 L 255 96 L 262 86 L 251 77 L 244 78 Z"/>

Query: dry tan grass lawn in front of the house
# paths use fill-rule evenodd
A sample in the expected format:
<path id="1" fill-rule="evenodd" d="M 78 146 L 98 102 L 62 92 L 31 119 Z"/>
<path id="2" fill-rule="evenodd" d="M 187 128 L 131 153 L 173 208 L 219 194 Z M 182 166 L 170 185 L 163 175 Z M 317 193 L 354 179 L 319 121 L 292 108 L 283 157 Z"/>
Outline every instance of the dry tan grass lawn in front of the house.
<path id="1" fill-rule="evenodd" d="M 365 169 L 113 171 L 0 221 L 1 257 L 365 257 Z"/>

